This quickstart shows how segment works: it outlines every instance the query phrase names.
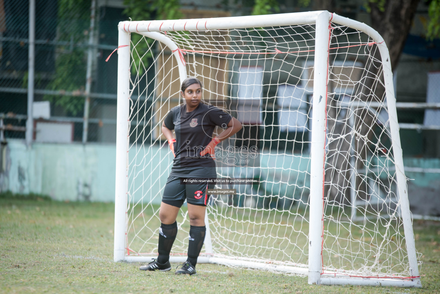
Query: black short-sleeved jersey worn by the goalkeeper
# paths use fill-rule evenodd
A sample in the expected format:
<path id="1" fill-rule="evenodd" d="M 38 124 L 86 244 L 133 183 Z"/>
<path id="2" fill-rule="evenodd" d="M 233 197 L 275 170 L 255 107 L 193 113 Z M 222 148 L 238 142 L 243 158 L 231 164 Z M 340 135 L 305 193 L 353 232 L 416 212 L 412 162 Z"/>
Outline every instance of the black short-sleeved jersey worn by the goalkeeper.
<path id="1" fill-rule="evenodd" d="M 213 139 L 216 126 L 223 129 L 232 117 L 223 110 L 203 103 L 191 112 L 186 105 L 173 107 L 165 117 L 165 126 L 176 133 L 174 162 L 170 176 L 216 177 L 216 164 L 209 156 L 200 155 Z"/>

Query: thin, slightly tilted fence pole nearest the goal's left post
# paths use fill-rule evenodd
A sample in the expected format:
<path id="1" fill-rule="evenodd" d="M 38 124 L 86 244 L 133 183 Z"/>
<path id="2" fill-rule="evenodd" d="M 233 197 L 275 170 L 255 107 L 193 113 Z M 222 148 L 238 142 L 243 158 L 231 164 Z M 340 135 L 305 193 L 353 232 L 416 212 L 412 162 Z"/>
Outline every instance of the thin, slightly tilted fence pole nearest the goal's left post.
<path id="1" fill-rule="evenodd" d="M 92 0 L 90 8 L 90 29 L 88 30 L 88 52 L 87 52 L 87 72 L 85 82 L 84 99 L 84 123 L 83 123 L 83 144 L 87 143 L 88 135 L 88 112 L 90 108 L 90 88 L 92 86 L 92 62 L 93 62 L 93 33 L 95 31 L 95 6 L 96 0 Z"/>

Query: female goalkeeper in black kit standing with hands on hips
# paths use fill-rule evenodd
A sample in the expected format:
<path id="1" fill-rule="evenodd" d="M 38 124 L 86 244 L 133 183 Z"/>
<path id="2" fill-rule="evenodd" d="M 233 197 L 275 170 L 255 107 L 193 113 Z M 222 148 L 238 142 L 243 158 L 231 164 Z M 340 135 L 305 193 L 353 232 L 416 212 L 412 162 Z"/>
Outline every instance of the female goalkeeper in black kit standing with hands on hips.
<path id="1" fill-rule="evenodd" d="M 162 133 L 174 155 L 171 173 L 165 184 L 159 218 L 158 258 L 140 267 L 147 271 L 169 271 L 169 254 L 177 235 L 176 217 L 185 199 L 188 205 L 190 232 L 187 261 L 176 271 L 176 275 L 196 273 L 197 258 L 205 239 L 205 210 L 213 189 L 209 178 L 216 178 L 214 148 L 222 140 L 238 132 L 242 125 L 230 114 L 217 107 L 201 102 L 202 82 L 188 77 L 182 83 L 180 95 L 186 104 L 173 107 L 162 123 Z M 224 129 L 212 137 L 216 126 Z M 172 130 L 174 130 L 174 135 Z M 196 184 L 185 184 L 184 179 L 197 179 Z M 206 181 L 205 181 L 206 179 Z"/>

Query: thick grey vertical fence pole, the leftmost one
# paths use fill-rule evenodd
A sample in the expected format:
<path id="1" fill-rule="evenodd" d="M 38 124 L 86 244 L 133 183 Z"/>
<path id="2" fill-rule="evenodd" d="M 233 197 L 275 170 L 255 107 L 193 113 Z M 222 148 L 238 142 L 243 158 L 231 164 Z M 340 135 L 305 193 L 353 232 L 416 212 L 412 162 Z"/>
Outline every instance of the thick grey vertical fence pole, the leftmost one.
<path id="1" fill-rule="evenodd" d="M 33 140 L 33 86 L 35 71 L 35 0 L 29 0 L 29 50 L 28 50 L 28 109 L 26 120 L 26 144 Z"/>

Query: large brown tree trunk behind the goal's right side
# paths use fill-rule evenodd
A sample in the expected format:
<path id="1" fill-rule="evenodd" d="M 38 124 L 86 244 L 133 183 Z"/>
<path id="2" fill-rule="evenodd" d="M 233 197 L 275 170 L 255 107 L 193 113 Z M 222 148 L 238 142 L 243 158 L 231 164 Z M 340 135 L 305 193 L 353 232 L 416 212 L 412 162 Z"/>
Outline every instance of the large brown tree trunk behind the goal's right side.
<path id="1" fill-rule="evenodd" d="M 437 0 L 435 0 L 437 1 Z M 317 1 L 319 2 L 319 1 Z M 391 68 L 395 69 L 400 58 L 400 54 L 403 50 L 403 46 L 407 39 L 409 30 L 411 29 L 411 22 L 414 18 L 419 0 L 369 0 L 367 3 L 367 11 L 370 12 L 371 26 L 385 40 L 385 44 L 389 49 Z M 323 7 L 328 9 L 328 7 Z M 365 60 L 366 68 L 360 78 L 363 82 L 362 89 L 358 89 L 358 96 L 364 101 L 371 99 L 371 89 L 374 89 L 374 95 L 385 99 L 385 88 L 382 86 L 375 86 L 374 77 L 377 76 L 380 66 L 380 56 L 376 51 L 376 55 L 372 58 Z M 330 106 L 334 104 L 333 99 L 329 99 Z M 328 115 L 334 117 L 336 114 L 336 107 L 330 107 Z M 355 141 L 356 159 L 355 166 L 350 167 L 350 149 L 351 143 L 345 138 L 349 136 L 351 127 L 348 125 L 329 125 L 334 127 L 339 139 L 334 140 L 329 144 L 329 153 L 327 154 L 327 167 L 325 173 L 326 195 L 329 200 L 335 200 L 339 203 L 350 203 L 348 195 L 349 177 L 351 169 L 362 169 L 365 159 L 369 153 L 371 138 L 373 137 L 376 125 L 374 124 L 374 116 L 365 108 L 354 110 L 355 122 L 354 129 L 359 132 L 360 136 Z M 331 184 L 330 184 L 331 183 Z M 330 184 L 330 185 L 329 185 Z M 342 187 L 342 189 L 341 189 Z M 366 199 L 367 184 L 362 176 L 356 177 L 356 192 L 359 198 Z"/>

